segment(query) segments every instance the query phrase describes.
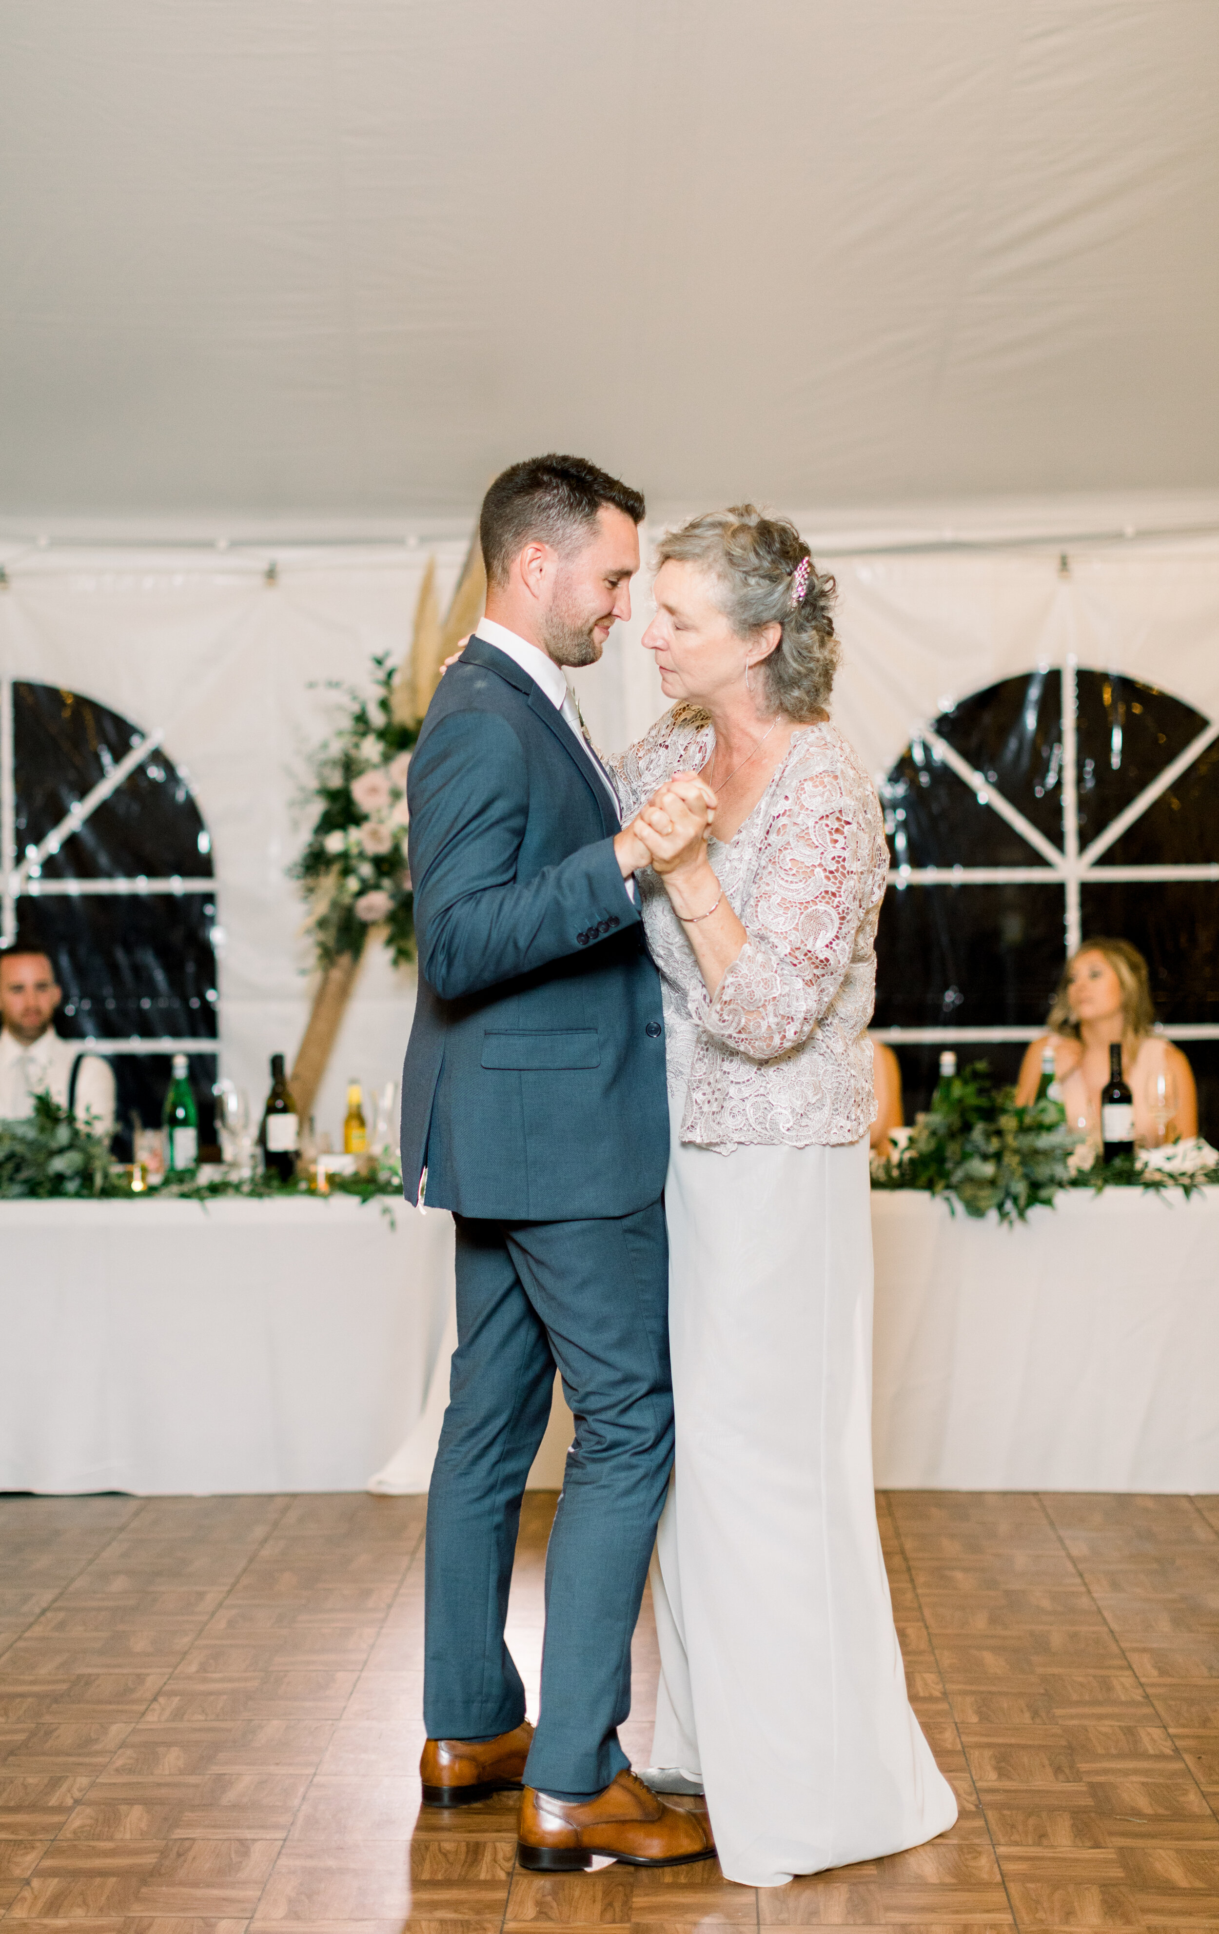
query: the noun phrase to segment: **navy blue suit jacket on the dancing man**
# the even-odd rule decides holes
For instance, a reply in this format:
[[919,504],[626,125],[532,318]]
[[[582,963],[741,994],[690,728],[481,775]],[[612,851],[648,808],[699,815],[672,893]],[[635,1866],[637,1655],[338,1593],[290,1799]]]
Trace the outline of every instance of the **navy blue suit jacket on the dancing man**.
[[426,1201],[466,1216],[633,1215],[664,1189],[664,1023],[606,787],[528,673],[474,636],[406,793],[406,1197],[426,1166]]

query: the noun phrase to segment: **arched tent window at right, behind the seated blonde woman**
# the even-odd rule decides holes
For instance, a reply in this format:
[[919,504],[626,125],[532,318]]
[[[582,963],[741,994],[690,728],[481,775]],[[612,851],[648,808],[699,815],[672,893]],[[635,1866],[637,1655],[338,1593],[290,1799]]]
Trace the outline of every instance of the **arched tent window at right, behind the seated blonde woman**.
[[1014,1077],[1062,961],[1132,940],[1219,1137],[1219,721],[1107,671],[1041,667],[944,712],[882,785],[894,868],[877,1035],[907,1114],[940,1046]]

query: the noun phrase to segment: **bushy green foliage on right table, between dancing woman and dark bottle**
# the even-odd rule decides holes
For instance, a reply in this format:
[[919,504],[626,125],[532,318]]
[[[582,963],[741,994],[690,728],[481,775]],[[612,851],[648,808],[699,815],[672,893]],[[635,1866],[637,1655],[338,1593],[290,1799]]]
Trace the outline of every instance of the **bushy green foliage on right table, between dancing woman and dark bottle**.
[[873,1168],[873,1187],[929,1189],[966,1215],[995,1209],[1000,1222],[1024,1222],[1072,1182],[1076,1135],[1056,1100],[1016,1106],[1016,1089],[996,1089],[987,1062],[940,1081],[935,1102],[915,1122],[907,1145]]

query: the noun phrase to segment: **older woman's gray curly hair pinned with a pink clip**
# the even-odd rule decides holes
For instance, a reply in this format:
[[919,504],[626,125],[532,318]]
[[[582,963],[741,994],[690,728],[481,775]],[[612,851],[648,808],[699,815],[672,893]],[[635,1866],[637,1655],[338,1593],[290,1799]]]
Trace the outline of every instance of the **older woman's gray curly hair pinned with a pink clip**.
[[[809,559],[809,582],[791,603],[791,580]],[[757,671],[768,712],[786,712],[803,723],[826,704],[834,687],[840,646],[834,636],[834,578],[820,574],[809,545],[786,516],[768,516],[753,503],[708,511],[668,532],[656,549],[656,569],[669,563],[700,565],[720,586],[720,609],[739,638],[753,638],[764,625],[784,634]]]

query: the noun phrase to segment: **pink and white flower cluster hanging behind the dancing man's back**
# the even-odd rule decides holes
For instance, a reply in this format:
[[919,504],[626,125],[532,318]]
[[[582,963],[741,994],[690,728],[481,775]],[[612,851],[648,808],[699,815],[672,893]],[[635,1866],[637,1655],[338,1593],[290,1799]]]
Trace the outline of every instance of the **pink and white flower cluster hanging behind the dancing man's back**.
[[308,928],[323,971],[344,953],[358,959],[373,926],[385,930],[395,965],[414,955],[406,772],[420,727],[402,718],[397,679],[381,654],[372,698],[335,685],[346,719],[313,760],[306,801],[315,818],[292,876],[312,901]]

